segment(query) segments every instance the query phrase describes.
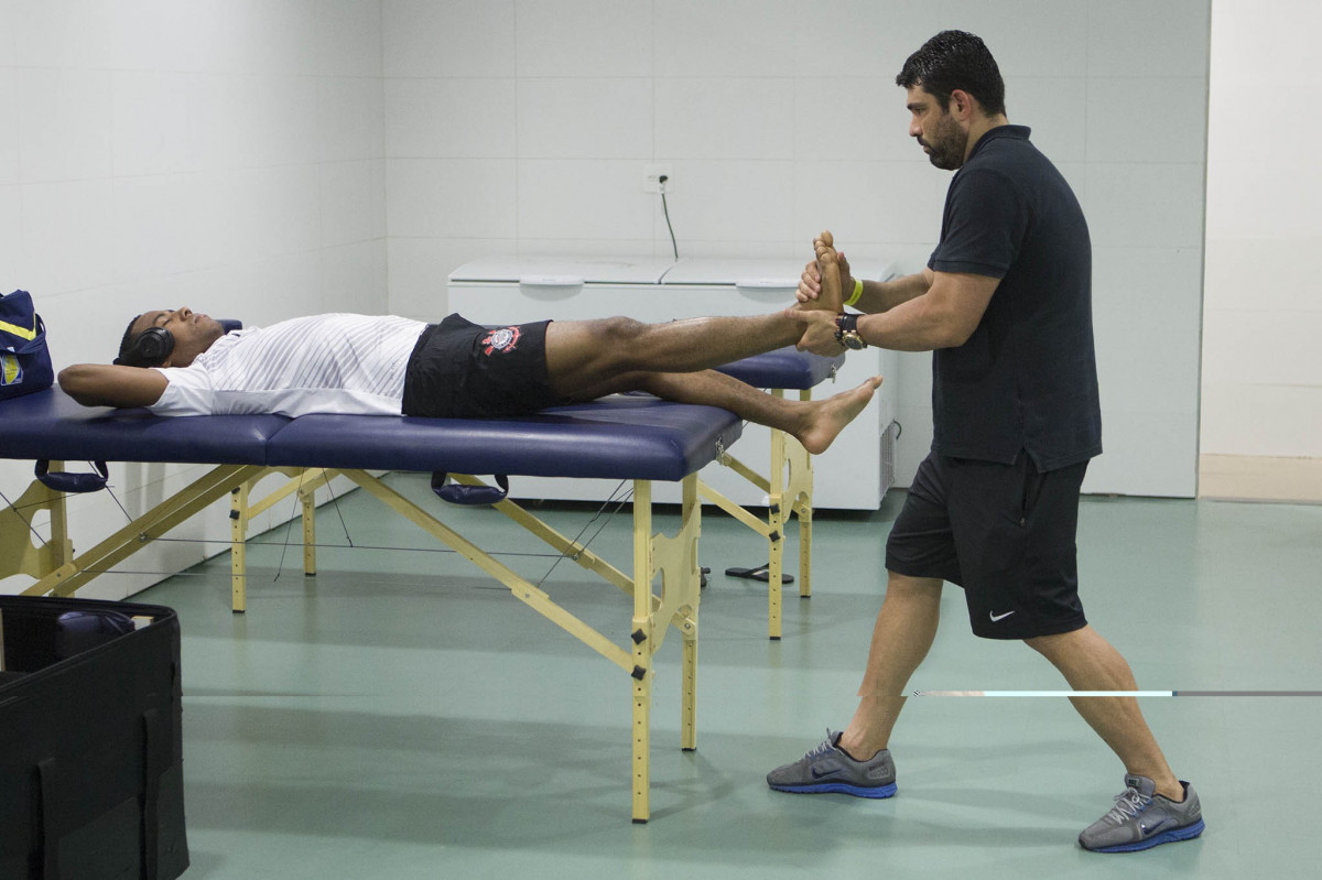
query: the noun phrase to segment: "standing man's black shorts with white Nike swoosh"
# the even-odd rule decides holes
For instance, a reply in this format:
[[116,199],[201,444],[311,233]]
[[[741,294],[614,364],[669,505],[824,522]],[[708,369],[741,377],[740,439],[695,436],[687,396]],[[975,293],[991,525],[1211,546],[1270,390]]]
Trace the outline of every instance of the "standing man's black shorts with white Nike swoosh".
[[1088,622],[1075,544],[1087,469],[1039,473],[1022,452],[1011,465],[931,453],[886,542],[886,568],[962,587],[984,638],[1076,630]]

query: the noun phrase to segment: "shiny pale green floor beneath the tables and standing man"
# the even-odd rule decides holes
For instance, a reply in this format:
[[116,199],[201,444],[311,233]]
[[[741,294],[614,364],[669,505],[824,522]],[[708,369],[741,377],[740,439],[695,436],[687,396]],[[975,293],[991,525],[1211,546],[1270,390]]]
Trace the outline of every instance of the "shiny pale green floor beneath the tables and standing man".
[[[393,485],[440,509],[422,478]],[[1137,855],[1075,844],[1122,769],[1059,698],[911,699],[888,801],[768,790],[768,769],[849,719],[902,498],[818,518],[814,595],[787,595],[779,642],[765,637],[764,588],[719,573],[764,562],[764,542],[703,519],[702,564],[717,573],[702,597],[698,751],[678,748],[672,633],[648,825],[629,822],[631,679],[364,493],[321,509],[319,539],[344,543],[348,530],[358,547],[412,550],[323,547],[304,579],[276,530],[250,550],[245,616],[229,612],[227,556],[141,593],[184,629],[185,876],[1318,876],[1322,699],[1145,699],[1202,794],[1207,832]],[[594,513],[539,510],[570,534]],[[440,513],[481,546],[541,552],[490,510]],[[621,514],[592,547],[628,566],[629,539]],[[553,563],[504,559],[534,581]],[[1322,506],[1088,498],[1080,566],[1089,618],[1140,687],[1322,688]],[[619,591],[568,563],[546,588],[625,641]],[[1022,645],[969,636],[956,588],[944,603],[915,688],[1063,687]]]

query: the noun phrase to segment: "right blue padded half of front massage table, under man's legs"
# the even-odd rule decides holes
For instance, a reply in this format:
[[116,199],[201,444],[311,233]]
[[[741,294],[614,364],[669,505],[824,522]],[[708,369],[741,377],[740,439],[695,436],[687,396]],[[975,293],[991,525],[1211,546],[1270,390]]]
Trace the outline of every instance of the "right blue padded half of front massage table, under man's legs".
[[271,439],[272,466],[682,480],[728,447],[739,419],[715,407],[607,398],[512,419],[305,415]]

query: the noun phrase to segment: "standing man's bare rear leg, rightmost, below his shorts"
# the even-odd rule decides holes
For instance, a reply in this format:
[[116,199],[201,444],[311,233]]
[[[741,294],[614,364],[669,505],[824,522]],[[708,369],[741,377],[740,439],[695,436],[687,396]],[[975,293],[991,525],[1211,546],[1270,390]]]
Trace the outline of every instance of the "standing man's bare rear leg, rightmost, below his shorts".
[[[1059,636],[1025,640],[1025,643],[1055,665],[1076,691],[1137,691],[1125,658],[1092,626]],[[1125,770],[1146,776],[1157,793],[1177,803],[1185,788],[1175,778],[1157,745],[1147,721],[1130,696],[1076,696],[1069,700],[1088,725],[1120,757]]]

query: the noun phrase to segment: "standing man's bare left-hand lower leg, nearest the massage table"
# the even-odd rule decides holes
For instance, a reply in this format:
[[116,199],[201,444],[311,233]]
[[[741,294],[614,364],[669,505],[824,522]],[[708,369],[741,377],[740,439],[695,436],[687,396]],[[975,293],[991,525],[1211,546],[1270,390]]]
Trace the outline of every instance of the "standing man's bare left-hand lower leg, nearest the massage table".
[[839,737],[839,747],[855,758],[866,761],[888,748],[904,708],[904,688],[936,637],[940,605],[940,579],[890,572],[858,688],[858,710]]

